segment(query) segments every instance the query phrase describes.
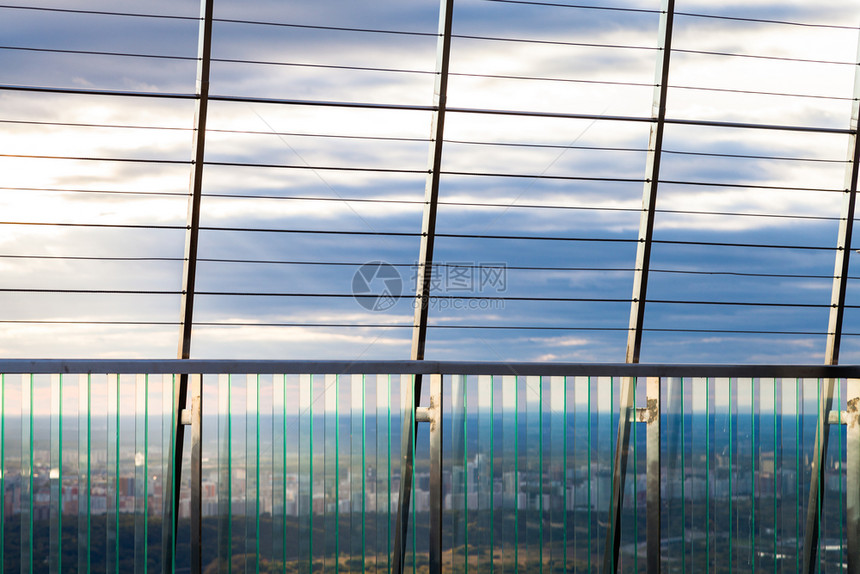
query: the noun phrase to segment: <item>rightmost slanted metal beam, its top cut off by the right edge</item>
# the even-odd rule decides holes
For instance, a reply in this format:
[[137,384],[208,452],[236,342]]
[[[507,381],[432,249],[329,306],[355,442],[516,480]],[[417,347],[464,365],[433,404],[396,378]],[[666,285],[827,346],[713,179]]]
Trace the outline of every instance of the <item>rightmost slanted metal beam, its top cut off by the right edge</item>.
[[[860,63],[860,46],[857,61]],[[839,348],[842,343],[842,322],[845,315],[845,293],[848,286],[848,263],[851,254],[851,237],[854,230],[854,211],[857,201],[857,177],[860,174],[860,145],[857,130],[860,127],[860,68],[854,72],[854,103],[851,106],[851,135],[849,136],[848,167],[845,172],[845,187],[842,192],[842,208],[839,214],[839,236],[836,240],[836,261],[833,270],[833,289],[830,296],[830,317],[827,323],[827,346],[824,351],[826,365],[839,364]],[[806,507],[806,530],[803,539],[803,572],[813,573],[818,557],[818,517],[821,513],[824,481],[824,459],[827,456],[830,409],[833,404],[833,379],[825,379],[819,400],[818,425],[815,434],[815,451],[812,457],[812,474],[809,482],[809,503]],[[855,476],[854,481],[860,480]],[[848,481],[852,477],[849,474]],[[856,540],[856,539],[855,539]],[[849,540],[850,542],[850,540]],[[852,554],[853,552],[853,554]],[[856,556],[860,549],[848,547],[848,555]],[[855,564],[855,566],[860,566]],[[855,570],[850,570],[854,572]]]

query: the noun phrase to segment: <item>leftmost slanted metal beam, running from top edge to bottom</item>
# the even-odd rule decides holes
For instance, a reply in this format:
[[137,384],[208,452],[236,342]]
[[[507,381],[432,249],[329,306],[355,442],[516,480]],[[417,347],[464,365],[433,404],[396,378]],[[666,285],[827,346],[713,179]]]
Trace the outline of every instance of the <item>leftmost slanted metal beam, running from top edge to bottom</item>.
[[[194,154],[193,171],[189,182],[188,197],[188,219],[185,232],[184,263],[182,268],[182,298],[180,301],[180,332],[179,349],[177,356],[180,359],[188,359],[191,356],[191,329],[194,319],[194,286],[197,277],[197,239],[200,233],[200,198],[203,191],[203,160],[205,157],[206,143],[206,116],[209,110],[209,69],[212,56],[212,15],[214,0],[200,0],[200,27],[198,31],[197,47],[197,102],[194,110],[194,135],[192,140],[192,153]],[[162,530],[162,548],[164,549],[163,570],[173,571],[174,552],[176,549],[176,525],[179,520],[179,492],[182,484],[182,450],[185,442],[185,425],[182,424],[182,412],[186,409],[186,397],[188,395],[188,375],[180,375],[179,384],[176,385],[173,406],[175,409],[176,426],[175,439],[170,443],[170,469],[172,484],[168,486],[168,492],[164,497],[164,524],[170,524],[171,528]],[[199,408],[197,412],[199,412]],[[198,425],[199,426],[199,425]],[[200,429],[194,428],[194,433],[199,434]],[[197,435],[195,435],[197,436]],[[199,438],[199,437],[197,437]],[[199,441],[198,441],[199,442]],[[196,444],[196,443],[195,443]],[[200,457],[196,461],[200,463]],[[192,474],[197,476],[200,469],[192,469]],[[199,481],[198,481],[199,482]],[[199,485],[198,485],[199,486]],[[193,495],[194,493],[192,493]],[[197,493],[199,502],[199,493]],[[198,505],[199,510],[199,505]],[[192,517],[197,521],[196,532],[200,533],[200,513]],[[195,530],[194,528],[192,530]],[[197,541],[199,551],[199,540]],[[192,540],[192,544],[194,541]],[[193,562],[192,562],[193,563]],[[196,561],[200,567],[200,560]],[[192,574],[198,574],[199,570],[193,570]]]

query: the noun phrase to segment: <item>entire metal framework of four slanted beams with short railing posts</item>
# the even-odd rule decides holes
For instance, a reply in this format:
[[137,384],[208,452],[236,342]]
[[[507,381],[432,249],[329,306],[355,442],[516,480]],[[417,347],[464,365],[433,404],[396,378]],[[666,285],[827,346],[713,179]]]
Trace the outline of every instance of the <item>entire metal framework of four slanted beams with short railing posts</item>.
[[[165,571],[172,564],[173,554],[175,550],[175,526],[178,519],[178,492],[181,485],[181,459],[184,446],[185,426],[192,427],[192,480],[200,480],[200,425],[201,425],[201,408],[202,402],[199,400],[200,390],[195,388],[192,392],[195,396],[192,398],[191,408],[186,404],[189,389],[189,377],[199,387],[202,380],[198,375],[192,373],[200,372],[198,368],[203,366],[219,365],[219,369],[224,366],[229,366],[233,363],[224,362],[195,362],[190,361],[191,339],[193,327],[193,308],[195,295],[195,279],[197,269],[197,248],[198,236],[200,230],[200,203],[202,197],[202,181],[203,181],[203,166],[205,156],[205,139],[206,139],[206,120],[208,111],[209,97],[209,70],[211,61],[211,44],[212,44],[212,22],[213,22],[213,4],[214,0],[201,0],[200,3],[200,26],[198,36],[198,66],[197,66],[197,93],[196,107],[193,132],[193,170],[190,178],[190,193],[188,202],[188,218],[185,235],[185,250],[184,264],[182,273],[182,293],[180,304],[180,336],[179,348],[177,356],[187,364],[187,368],[174,369],[171,372],[179,373],[179,385],[176,389],[175,396],[175,421],[174,427],[175,439],[171,442],[170,464],[172,465],[171,472],[173,474],[172,492],[170,496],[165,497],[165,520],[173,524],[173,528],[165,528],[163,531],[163,543],[165,548]],[[418,275],[416,283],[415,295],[415,314],[412,328],[412,344],[411,344],[411,360],[396,362],[385,362],[388,366],[402,366],[402,372],[412,373],[413,379],[413,396],[415,398],[415,415],[412,417],[404,417],[403,427],[403,458],[401,460],[402,474],[404,477],[401,480],[401,490],[398,503],[397,522],[395,529],[395,548],[394,548],[394,572],[402,574],[403,558],[406,544],[406,532],[408,529],[409,520],[409,504],[411,495],[411,468],[413,465],[414,456],[414,439],[416,436],[416,421],[426,420],[431,422],[435,431],[431,432],[431,456],[435,456],[432,462],[433,468],[436,465],[441,465],[439,452],[441,449],[441,419],[434,418],[432,408],[434,401],[441,400],[441,373],[442,372],[483,372],[488,365],[480,363],[438,363],[429,362],[423,363],[428,317],[430,308],[430,286],[433,275],[433,252],[436,237],[436,214],[438,207],[439,185],[442,176],[441,159],[443,147],[443,134],[445,125],[446,111],[458,113],[483,113],[483,114],[513,114],[515,112],[502,112],[497,110],[475,110],[475,109],[448,109],[447,108],[447,87],[449,76],[449,64],[451,57],[451,38],[452,38],[452,22],[453,22],[453,0],[440,0],[439,9],[439,28],[438,28],[438,43],[437,43],[437,58],[436,58],[436,80],[434,89],[434,102],[431,107],[427,106],[401,106],[398,109],[422,109],[432,111],[431,124],[431,147],[429,154],[428,175],[425,185],[425,201],[422,218],[421,244],[418,260]],[[655,88],[653,96],[653,107],[651,118],[606,118],[600,119],[617,119],[620,121],[650,121],[650,135],[647,152],[647,160],[645,166],[645,185],[643,190],[642,212],[640,215],[640,228],[636,252],[636,263],[633,275],[633,294],[631,300],[630,320],[628,328],[628,339],[625,360],[628,363],[627,367],[631,368],[639,362],[642,333],[644,325],[645,304],[647,302],[647,286],[648,275],[650,270],[651,248],[653,245],[654,218],[656,213],[657,192],[660,181],[660,162],[663,151],[663,132],[666,124],[683,124],[683,125],[701,125],[701,126],[724,126],[738,128],[761,128],[761,129],[786,129],[793,131],[809,131],[820,133],[845,133],[850,136],[849,149],[849,165],[846,173],[846,183],[843,195],[842,210],[840,216],[839,234],[837,239],[837,249],[835,256],[835,270],[832,287],[831,308],[827,330],[827,344],[825,350],[825,368],[820,370],[820,367],[791,367],[785,368],[786,372],[795,373],[803,372],[803,369],[809,369],[809,372],[818,373],[815,376],[822,376],[830,371],[826,367],[835,367],[839,360],[839,350],[842,338],[842,325],[845,310],[845,297],[847,289],[848,265],[852,244],[852,227],[855,214],[855,203],[857,193],[858,175],[860,175],[860,145],[858,145],[857,130],[860,127],[860,72],[855,74],[854,85],[854,101],[852,106],[851,124],[849,129],[826,129],[826,128],[804,128],[794,126],[776,126],[776,125],[750,125],[736,124],[731,122],[713,122],[713,121],[696,121],[696,120],[678,120],[666,118],[666,99],[668,92],[668,74],[669,64],[672,51],[672,29],[675,13],[674,0],[662,0],[662,7],[659,22],[659,40],[658,40],[658,57],[655,74]],[[858,52],[858,61],[860,61],[860,52]],[[3,89],[19,89],[13,86],[0,86]],[[25,89],[25,88],[20,88]],[[42,89],[36,91],[52,91]],[[64,90],[53,90],[63,92]],[[75,90],[74,93],[85,93],[86,90]],[[119,92],[102,92],[90,90],[89,93],[104,94],[104,95],[129,95],[141,96],[143,94],[134,93],[119,93]],[[218,97],[214,98],[223,101],[240,101],[242,98]],[[244,101],[244,100],[243,100]],[[260,100],[263,101],[263,100]],[[276,101],[276,100],[265,100]],[[296,105],[349,105],[336,102],[287,102],[277,100],[281,103],[293,103]],[[360,107],[363,105],[356,104]],[[363,107],[374,107],[366,105]],[[541,114],[541,113],[526,113],[520,115],[533,115],[541,117],[587,117],[582,114]],[[0,366],[4,362],[0,361]],[[12,366],[8,361],[7,366]],[[66,366],[75,364],[73,362],[64,362]],[[113,362],[112,364],[116,364]],[[282,362],[252,362],[255,365],[266,368],[275,368],[274,365],[285,366]],[[381,365],[383,362],[380,362]],[[92,362],[83,362],[81,364],[92,364]],[[134,364],[128,362],[128,364]],[[356,363],[340,364],[336,362],[295,362],[296,368],[301,368],[303,372],[313,370],[313,366],[327,365],[328,368],[341,368],[344,372],[359,368]],[[421,364],[419,366],[419,364]],[[301,365],[298,367],[297,365]],[[360,364],[359,364],[360,365]],[[32,366],[32,363],[31,363]],[[366,366],[366,365],[365,365]],[[460,371],[455,368],[463,367],[465,371]],[[555,365],[547,368],[538,369],[539,371],[546,370],[550,372],[562,372],[569,369],[571,365]],[[575,366],[574,370],[588,370],[592,374],[599,372],[601,369],[606,369],[607,372],[617,373],[620,365],[588,365]],[[44,364],[39,368],[47,368]],[[161,366],[163,367],[163,365]],[[245,367],[247,368],[247,363]],[[524,371],[535,370],[534,365],[529,364],[503,364],[490,366],[490,371],[502,369],[505,373],[521,374]],[[636,376],[649,376],[648,373],[660,373],[658,376],[671,376],[671,371],[677,369],[678,372],[696,371],[697,369],[705,369],[707,372],[738,372],[738,366],[726,367],[680,367],[680,366],[642,366],[644,370],[640,372],[638,367],[630,370],[622,383],[621,400],[619,413],[619,426],[617,436],[617,448],[615,451],[615,461],[613,469],[613,490],[610,506],[610,520],[606,535],[606,546],[604,554],[604,570],[607,572],[615,572],[618,565],[618,552],[620,544],[620,520],[621,507],[623,503],[624,482],[626,478],[626,466],[629,448],[630,425],[638,422],[647,422],[647,523],[648,523],[648,571],[660,571],[660,459],[659,459],[659,423],[661,415],[660,406],[660,389],[659,379],[649,378],[647,381],[647,397],[648,407],[646,409],[633,408],[633,398],[636,391]],[[778,376],[780,367],[741,367],[741,371],[756,372],[771,372],[776,369],[776,372],[770,376]],[[669,371],[669,372],[667,372]],[[32,371],[32,368],[30,369]],[[279,371],[283,372],[283,371]],[[836,374],[836,373],[839,374]],[[842,369],[834,369],[833,377],[846,376]],[[428,414],[426,409],[417,405],[421,396],[422,376],[431,375],[433,389],[431,392],[431,411]],[[750,376],[756,376],[752,374]],[[760,375],[767,376],[767,375]],[[829,376],[829,375],[828,375]],[[850,373],[849,375],[850,376]],[[656,381],[656,382],[655,382]],[[853,571],[860,568],[860,478],[858,468],[860,468],[860,452],[855,452],[860,449],[860,430],[858,430],[858,415],[857,404],[860,402],[860,383],[856,381],[849,382],[849,410],[845,413],[845,421],[843,417],[838,417],[838,421],[831,421],[832,400],[833,400],[834,378],[827,378],[822,385],[822,395],[820,401],[819,421],[817,428],[816,447],[813,457],[813,472],[810,482],[810,496],[807,508],[807,528],[806,537],[804,540],[804,572],[814,572],[818,549],[818,516],[821,511],[822,504],[822,489],[820,484],[823,481],[823,460],[827,452],[829,425],[836,422],[844,423],[845,421],[854,421],[853,426],[849,422],[848,432],[848,495],[847,495],[847,529],[849,537],[848,562],[849,570]],[[435,433],[439,433],[436,436]],[[435,437],[435,438],[434,438]],[[441,467],[440,467],[441,468]],[[852,470],[853,469],[853,470]],[[441,477],[441,475],[440,475]],[[436,491],[441,498],[441,478],[435,485]],[[199,487],[199,484],[198,484]],[[192,520],[192,572],[200,572],[201,564],[201,513],[200,513],[200,496],[199,488],[197,489],[196,497],[192,498],[192,514],[195,515]],[[434,491],[434,492],[436,492]],[[434,507],[433,517],[431,517],[431,538],[435,539],[431,544],[431,572],[441,572],[441,503]],[[196,525],[195,525],[196,522]],[[438,531],[437,531],[438,530]],[[437,548],[438,547],[438,548]]]

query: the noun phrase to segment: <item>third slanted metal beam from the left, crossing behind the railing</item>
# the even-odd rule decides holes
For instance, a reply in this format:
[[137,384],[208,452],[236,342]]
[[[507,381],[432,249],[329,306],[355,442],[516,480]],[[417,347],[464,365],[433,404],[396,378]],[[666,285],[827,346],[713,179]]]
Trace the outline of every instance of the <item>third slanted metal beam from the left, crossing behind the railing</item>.
[[[655,71],[654,99],[651,109],[651,132],[648,137],[648,156],[645,165],[645,187],[642,194],[642,213],[639,218],[639,243],[636,247],[636,266],[633,274],[633,297],[630,306],[630,324],[627,331],[628,363],[638,363],[642,347],[642,325],[645,318],[645,300],[648,290],[648,271],[651,266],[651,246],[654,236],[654,213],[657,206],[657,188],[660,180],[660,160],[663,154],[663,130],[666,125],[666,94],[669,87],[669,60],[672,55],[672,28],[675,17],[675,0],[662,0],[660,13],[658,58]],[[621,507],[624,498],[624,481],[627,475],[627,456],[630,445],[630,415],[636,379],[625,378],[621,383],[621,412],[618,419],[618,442],[613,464],[612,500],[609,506],[609,528],[603,551],[603,571],[614,573],[618,568],[618,550],[621,544]],[[650,446],[650,441],[649,441]],[[658,522],[659,524],[659,522]],[[650,533],[649,537],[659,532]],[[649,552],[652,546],[648,546]],[[659,545],[656,546],[659,550]],[[655,562],[659,566],[659,560]],[[649,554],[648,564],[652,564]],[[659,570],[658,570],[659,572]]]

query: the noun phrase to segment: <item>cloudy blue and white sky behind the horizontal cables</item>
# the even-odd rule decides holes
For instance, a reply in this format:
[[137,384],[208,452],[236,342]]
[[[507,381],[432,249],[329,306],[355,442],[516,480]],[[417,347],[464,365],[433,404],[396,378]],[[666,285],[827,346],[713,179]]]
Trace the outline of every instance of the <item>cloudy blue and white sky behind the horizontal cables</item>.
[[[659,9],[456,3],[427,358],[624,360]],[[0,355],[171,358],[199,6],[74,10],[0,7]],[[860,7],[676,11],[642,361],[819,363]],[[408,358],[411,300],[350,294],[376,261],[414,292],[438,3],[216,0],[215,18],[192,357]],[[857,361],[858,309],[845,332]]]

